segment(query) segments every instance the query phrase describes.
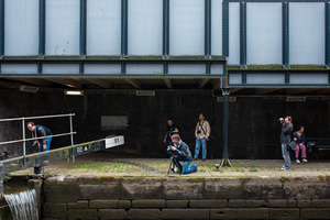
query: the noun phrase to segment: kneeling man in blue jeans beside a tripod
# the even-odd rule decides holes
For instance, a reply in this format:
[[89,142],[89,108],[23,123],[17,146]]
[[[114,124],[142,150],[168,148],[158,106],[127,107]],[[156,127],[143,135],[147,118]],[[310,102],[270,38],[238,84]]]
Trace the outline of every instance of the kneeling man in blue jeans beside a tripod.
[[[197,170],[197,165],[194,164],[190,166],[193,161],[191,153],[189,147],[186,143],[183,142],[178,134],[173,134],[170,136],[174,146],[169,146],[173,151],[173,163],[178,167],[179,173],[182,174],[189,174]],[[179,163],[183,161],[183,165]]]

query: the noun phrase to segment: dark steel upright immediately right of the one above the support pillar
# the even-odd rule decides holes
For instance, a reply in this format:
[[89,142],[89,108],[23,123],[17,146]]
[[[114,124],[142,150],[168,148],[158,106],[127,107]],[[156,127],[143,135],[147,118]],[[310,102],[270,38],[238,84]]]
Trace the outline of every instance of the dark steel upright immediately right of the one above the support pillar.
[[246,65],[246,1],[240,1],[240,64]]

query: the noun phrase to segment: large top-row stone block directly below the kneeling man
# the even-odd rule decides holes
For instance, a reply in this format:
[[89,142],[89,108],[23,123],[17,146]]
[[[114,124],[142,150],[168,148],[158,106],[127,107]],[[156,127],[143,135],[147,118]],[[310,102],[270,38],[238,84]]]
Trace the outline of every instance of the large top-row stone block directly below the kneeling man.
[[204,178],[167,178],[163,182],[165,199],[201,199]]

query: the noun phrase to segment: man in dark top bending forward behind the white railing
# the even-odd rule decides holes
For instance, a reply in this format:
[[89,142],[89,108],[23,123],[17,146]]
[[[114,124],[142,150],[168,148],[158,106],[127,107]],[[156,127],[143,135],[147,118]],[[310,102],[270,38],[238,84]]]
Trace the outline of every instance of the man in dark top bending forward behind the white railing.
[[53,135],[52,131],[46,127],[34,124],[34,122],[29,122],[26,127],[32,132],[33,138],[48,136],[45,139],[37,139],[35,143],[37,144],[38,152],[50,151],[52,142],[51,135]]

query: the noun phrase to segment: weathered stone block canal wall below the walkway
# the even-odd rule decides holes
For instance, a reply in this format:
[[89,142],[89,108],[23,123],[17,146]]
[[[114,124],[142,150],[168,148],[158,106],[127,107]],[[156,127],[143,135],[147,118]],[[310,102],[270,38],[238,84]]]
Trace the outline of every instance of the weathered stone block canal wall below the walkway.
[[329,176],[48,177],[44,220],[329,219]]

